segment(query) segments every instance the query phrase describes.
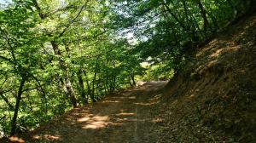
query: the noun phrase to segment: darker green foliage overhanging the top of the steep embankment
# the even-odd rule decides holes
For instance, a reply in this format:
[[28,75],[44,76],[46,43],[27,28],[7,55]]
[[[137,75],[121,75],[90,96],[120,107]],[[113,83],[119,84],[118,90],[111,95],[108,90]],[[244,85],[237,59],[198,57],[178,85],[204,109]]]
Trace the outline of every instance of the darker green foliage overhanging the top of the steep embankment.
[[[120,2],[121,1],[121,2]],[[255,2],[241,0],[119,0],[120,26],[139,39],[137,52],[177,72],[215,33],[250,14]]]

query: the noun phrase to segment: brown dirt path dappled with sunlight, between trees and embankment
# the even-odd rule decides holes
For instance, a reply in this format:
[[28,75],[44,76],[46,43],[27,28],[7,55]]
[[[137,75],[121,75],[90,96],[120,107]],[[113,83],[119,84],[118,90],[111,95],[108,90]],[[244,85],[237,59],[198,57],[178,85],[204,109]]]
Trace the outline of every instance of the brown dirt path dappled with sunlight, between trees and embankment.
[[126,143],[156,142],[154,106],[166,82],[113,94],[93,106],[67,112],[22,139],[26,142]]

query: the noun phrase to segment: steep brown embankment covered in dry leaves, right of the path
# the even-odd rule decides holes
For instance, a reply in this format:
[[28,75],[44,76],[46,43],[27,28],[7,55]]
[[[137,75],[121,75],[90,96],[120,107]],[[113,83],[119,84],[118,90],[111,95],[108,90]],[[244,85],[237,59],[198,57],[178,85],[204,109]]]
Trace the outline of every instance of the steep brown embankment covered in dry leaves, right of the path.
[[166,85],[160,142],[256,141],[255,42],[254,14],[198,50]]

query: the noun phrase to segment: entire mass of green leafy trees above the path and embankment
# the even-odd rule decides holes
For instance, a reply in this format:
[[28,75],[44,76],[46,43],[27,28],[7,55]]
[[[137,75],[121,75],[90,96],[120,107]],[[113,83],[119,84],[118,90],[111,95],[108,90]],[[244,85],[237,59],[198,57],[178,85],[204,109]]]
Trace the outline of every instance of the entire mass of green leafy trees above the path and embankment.
[[253,3],[13,0],[0,9],[0,133],[34,129],[136,85],[136,76],[172,77]]

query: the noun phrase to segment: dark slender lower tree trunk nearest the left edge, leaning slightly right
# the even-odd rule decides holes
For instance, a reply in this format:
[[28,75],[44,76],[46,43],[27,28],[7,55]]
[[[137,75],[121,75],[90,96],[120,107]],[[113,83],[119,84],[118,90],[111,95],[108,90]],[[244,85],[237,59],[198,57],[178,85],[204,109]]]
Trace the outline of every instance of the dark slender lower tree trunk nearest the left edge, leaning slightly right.
[[16,133],[16,128],[17,128],[17,117],[18,117],[18,112],[19,112],[19,108],[20,108],[20,100],[21,100],[21,94],[22,94],[22,90],[24,87],[24,84],[26,83],[26,78],[22,77],[21,81],[20,81],[20,87],[18,90],[18,95],[16,98],[16,104],[15,104],[15,113],[14,113],[14,117],[11,121],[11,133],[10,135],[15,135]]

